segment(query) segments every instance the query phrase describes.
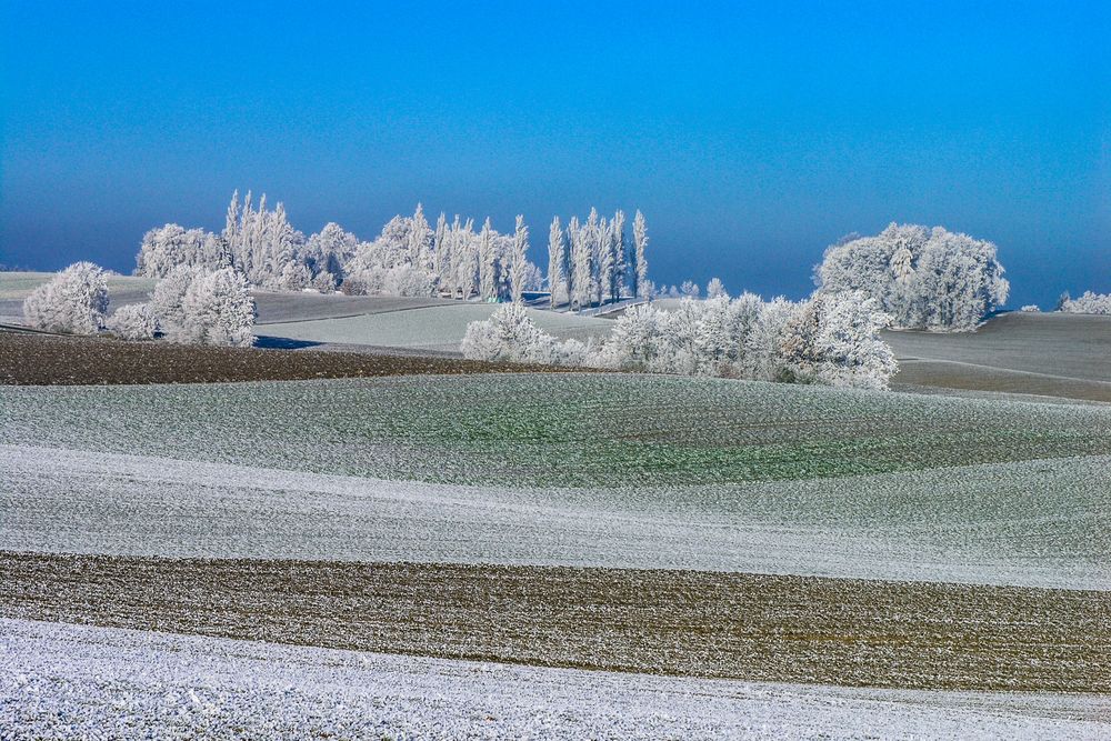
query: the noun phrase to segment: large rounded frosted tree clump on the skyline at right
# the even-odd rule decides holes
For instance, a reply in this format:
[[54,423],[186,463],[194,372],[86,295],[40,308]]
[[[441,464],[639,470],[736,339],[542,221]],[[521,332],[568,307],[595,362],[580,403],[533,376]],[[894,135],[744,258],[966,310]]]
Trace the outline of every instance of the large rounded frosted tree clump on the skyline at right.
[[1009,283],[991,242],[941,227],[892,223],[877,237],[825,251],[820,293],[862,291],[901,329],[971,330],[1007,300]]

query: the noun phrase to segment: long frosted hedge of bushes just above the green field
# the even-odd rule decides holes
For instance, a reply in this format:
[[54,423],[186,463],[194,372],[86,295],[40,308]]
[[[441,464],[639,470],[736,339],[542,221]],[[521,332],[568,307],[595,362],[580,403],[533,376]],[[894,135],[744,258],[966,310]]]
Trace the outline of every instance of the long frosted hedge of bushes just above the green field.
[[889,321],[860,292],[803,303],[751,293],[685,299],[674,311],[631,307],[595,349],[559,342],[514,304],[471,322],[462,350],[477,360],[884,389],[897,370],[880,337]]

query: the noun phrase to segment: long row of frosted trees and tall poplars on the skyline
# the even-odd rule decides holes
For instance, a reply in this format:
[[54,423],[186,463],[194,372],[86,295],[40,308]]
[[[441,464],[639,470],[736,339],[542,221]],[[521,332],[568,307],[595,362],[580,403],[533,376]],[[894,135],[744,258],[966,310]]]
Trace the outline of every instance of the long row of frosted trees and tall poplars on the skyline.
[[[559,218],[549,232],[547,283],[551,306],[583,309],[625,297],[648,297],[644,217],[633,219],[633,239],[625,236],[625,217]],[[273,291],[343,290],[347,293],[448,296],[458,299],[520,302],[546,280],[529,261],[529,228],[517,217],[513,232],[499,233],[486,219],[441,213],[434,227],[418,204],[411,217],[397,216],[372,241],[360,241],[329,223],[308,238],[296,230],[286,209],[272,210],[263,196],[256,204],[237,191],[228,207],[223,231],[166,224],[143,237],[136,273],[164,278],[178,266],[218,270],[233,268],[257,288]]]

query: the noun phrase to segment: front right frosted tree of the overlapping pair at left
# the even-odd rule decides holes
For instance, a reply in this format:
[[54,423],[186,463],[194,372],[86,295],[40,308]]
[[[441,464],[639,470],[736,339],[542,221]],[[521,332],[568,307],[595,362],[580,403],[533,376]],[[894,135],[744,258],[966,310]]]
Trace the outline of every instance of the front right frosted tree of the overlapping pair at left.
[[196,344],[246,348],[254,344],[254,299],[233,268],[198,276],[186,292],[181,336]]

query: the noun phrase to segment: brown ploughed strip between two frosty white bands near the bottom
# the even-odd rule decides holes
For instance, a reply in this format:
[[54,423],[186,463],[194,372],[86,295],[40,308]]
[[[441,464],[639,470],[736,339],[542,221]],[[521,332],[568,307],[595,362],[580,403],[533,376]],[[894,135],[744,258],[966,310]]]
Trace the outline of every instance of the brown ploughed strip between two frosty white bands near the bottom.
[[0,552],[0,615],[693,677],[1107,692],[1111,594],[693,571]]

